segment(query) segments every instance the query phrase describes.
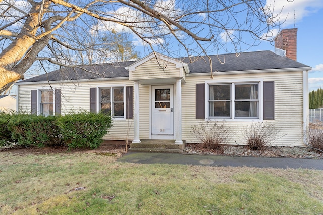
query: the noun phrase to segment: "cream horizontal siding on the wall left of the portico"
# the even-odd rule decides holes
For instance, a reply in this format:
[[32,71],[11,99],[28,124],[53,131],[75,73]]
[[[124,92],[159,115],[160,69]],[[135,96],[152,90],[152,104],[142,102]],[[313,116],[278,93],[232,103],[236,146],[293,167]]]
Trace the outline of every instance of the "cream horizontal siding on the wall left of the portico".
[[[97,82],[78,82],[66,83],[64,85],[51,83],[52,88],[61,89],[61,104],[62,115],[69,113],[71,110],[84,109],[90,110],[90,88],[103,87],[111,85],[133,86],[132,81],[97,81]],[[50,86],[48,84],[26,84],[19,86],[19,108],[24,111],[31,111],[31,90],[46,89]],[[129,132],[128,128],[130,126]],[[127,138],[133,139],[133,119],[115,119],[113,120],[113,127],[109,130],[103,139],[125,140]]]

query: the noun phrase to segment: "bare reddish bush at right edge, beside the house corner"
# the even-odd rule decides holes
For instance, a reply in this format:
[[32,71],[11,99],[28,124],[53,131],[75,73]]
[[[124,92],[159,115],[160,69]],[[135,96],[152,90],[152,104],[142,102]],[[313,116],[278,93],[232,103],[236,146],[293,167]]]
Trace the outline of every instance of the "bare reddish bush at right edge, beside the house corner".
[[321,123],[311,123],[305,131],[305,144],[312,151],[323,153],[323,125]]

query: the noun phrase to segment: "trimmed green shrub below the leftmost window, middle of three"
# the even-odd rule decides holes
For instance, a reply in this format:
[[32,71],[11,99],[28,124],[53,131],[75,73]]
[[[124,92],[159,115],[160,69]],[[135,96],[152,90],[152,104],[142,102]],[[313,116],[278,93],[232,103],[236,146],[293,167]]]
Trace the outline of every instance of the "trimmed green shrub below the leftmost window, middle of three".
[[9,120],[12,138],[18,145],[44,147],[60,143],[60,130],[57,117],[14,114]]

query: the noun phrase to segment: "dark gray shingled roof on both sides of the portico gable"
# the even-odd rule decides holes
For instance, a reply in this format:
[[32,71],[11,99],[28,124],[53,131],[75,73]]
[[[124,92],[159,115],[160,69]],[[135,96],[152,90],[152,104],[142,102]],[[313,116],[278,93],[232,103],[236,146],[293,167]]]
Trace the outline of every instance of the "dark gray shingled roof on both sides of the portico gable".
[[[233,53],[224,55],[212,55],[210,57],[213,63],[213,70],[219,72],[309,67],[287,57],[276,55],[272,51],[245,52],[241,53],[239,56]],[[194,58],[195,61],[193,63],[189,63],[189,58],[187,57],[177,58],[177,60],[188,63],[190,73],[210,72],[208,58],[193,57],[193,59]],[[219,59],[225,63],[220,63]],[[83,65],[74,68],[67,67],[30,79],[26,79],[22,82],[128,77],[129,71],[127,71],[125,67],[133,64],[134,62],[135,61],[128,61],[91,66]],[[80,67],[82,67],[83,69],[81,69]]]

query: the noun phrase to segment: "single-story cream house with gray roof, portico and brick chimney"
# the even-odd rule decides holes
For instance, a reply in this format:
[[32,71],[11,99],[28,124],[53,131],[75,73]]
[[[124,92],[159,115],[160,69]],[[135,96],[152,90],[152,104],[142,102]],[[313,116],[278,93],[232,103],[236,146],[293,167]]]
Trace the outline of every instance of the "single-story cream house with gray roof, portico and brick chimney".
[[[277,41],[283,55],[296,51],[296,30],[285,29],[277,37],[284,40],[284,47]],[[225,120],[234,130],[230,144],[243,144],[244,127],[267,122],[285,134],[275,145],[304,146],[311,68],[294,56],[272,51],[213,55],[213,73],[205,57],[192,57],[190,63],[187,57],[159,53],[138,61],[63,68],[17,83],[18,106],[43,115],[79,108],[111,112],[114,126],[104,136],[110,140],[198,143],[192,125],[208,119]]]

